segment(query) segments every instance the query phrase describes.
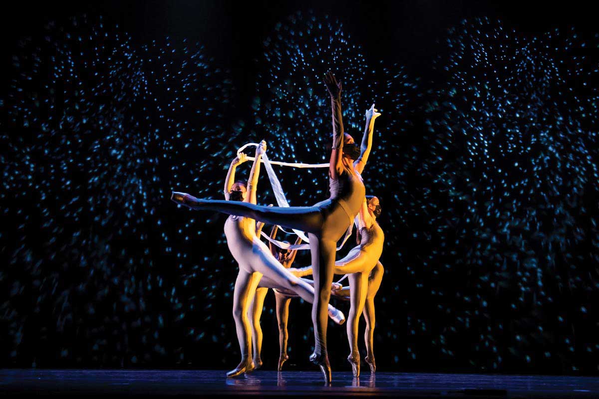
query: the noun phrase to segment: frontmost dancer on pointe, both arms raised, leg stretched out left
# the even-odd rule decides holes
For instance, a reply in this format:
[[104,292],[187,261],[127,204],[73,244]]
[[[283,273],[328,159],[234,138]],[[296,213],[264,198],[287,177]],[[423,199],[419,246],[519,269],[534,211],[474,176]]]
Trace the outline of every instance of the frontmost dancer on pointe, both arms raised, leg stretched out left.
[[[331,366],[326,352],[326,318],[331,297],[336,245],[362,206],[365,189],[359,172],[364,169],[367,158],[363,156],[364,142],[371,142],[374,120],[380,114],[374,110],[374,106],[367,111],[361,151],[352,136],[343,132],[341,83],[337,83],[331,72],[326,74],[324,81],[331,97],[333,127],[329,162],[329,199],[313,206],[286,208],[259,206],[249,202],[197,199],[190,194],[179,192],[174,192],[171,199],[192,209],[249,217],[308,233],[311,263],[314,268],[314,290],[317,292],[312,306],[314,353],[310,360],[320,367],[325,383],[330,383]],[[370,153],[370,148],[367,151]]]

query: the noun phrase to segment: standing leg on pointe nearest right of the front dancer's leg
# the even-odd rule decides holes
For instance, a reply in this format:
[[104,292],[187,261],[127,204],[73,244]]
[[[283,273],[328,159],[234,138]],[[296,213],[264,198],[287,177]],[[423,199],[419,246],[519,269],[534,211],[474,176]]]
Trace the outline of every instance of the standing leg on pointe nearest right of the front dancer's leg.
[[350,309],[347,316],[347,341],[350,354],[347,361],[352,365],[354,377],[360,376],[360,352],[358,350],[358,323],[368,294],[368,273],[347,276],[350,287]]

